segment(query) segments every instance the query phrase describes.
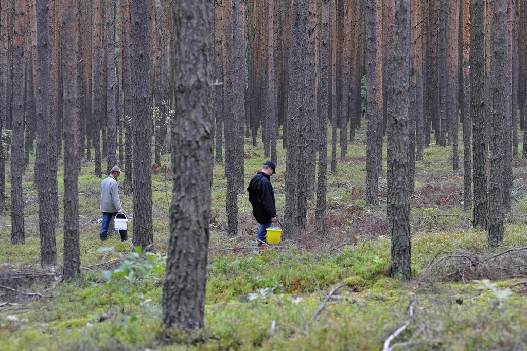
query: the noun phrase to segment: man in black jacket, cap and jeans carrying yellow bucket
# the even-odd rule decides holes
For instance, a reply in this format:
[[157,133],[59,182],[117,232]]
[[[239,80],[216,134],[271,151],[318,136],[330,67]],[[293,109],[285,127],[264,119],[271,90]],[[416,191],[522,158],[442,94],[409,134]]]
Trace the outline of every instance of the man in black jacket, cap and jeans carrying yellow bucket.
[[276,165],[267,161],[249,183],[249,202],[252,204],[252,215],[260,223],[256,242],[258,246],[266,243],[266,229],[276,222],[275,192],[271,185],[271,175],[276,173]]

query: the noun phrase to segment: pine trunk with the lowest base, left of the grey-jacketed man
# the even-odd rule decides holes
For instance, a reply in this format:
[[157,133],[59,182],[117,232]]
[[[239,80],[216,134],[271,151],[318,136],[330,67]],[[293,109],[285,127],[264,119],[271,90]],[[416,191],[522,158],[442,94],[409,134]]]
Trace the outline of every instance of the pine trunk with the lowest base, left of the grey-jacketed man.
[[[76,169],[79,157],[77,147],[77,3],[62,0],[62,27],[64,28],[64,169]],[[113,58],[113,56],[112,56]],[[80,274],[81,249],[79,246],[79,195],[77,172],[64,172],[64,280]]]

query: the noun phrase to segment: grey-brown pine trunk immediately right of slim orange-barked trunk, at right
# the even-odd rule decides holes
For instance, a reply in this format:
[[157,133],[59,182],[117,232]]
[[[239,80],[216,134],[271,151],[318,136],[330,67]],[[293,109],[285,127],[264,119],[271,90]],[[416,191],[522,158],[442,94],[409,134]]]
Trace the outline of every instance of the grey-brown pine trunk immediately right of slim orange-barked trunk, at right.
[[[487,228],[487,148],[485,142],[485,33],[484,0],[472,0],[471,18],[471,81],[472,133],[474,153],[474,227]],[[490,103],[487,101],[487,103]]]

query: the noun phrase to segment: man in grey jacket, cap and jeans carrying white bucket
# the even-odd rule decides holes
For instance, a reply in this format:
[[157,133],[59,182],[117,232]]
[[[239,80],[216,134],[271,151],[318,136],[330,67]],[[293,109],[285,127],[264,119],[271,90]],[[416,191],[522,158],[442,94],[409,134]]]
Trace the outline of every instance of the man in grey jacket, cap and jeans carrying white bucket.
[[[117,178],[121,173],[121,169],[118,166],[113,166],[108,178],[101,183],[101,240],[108,239],[108,226],[112,218],[118,213],[123,213],[123,206],[119,198],[119,186],[117,185]],[[121,240],[128,240],[128,230],[119,230],[119,233],[121,234]]]

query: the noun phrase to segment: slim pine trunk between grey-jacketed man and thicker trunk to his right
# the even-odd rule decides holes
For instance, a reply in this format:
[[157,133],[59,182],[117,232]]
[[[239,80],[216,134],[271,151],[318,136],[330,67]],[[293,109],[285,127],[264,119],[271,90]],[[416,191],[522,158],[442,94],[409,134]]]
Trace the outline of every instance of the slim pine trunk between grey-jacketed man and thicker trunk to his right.
[[124,114],[124,195],[132,194],[133,179],[133,100],[130,56],[130,7],[129,0],[121,0],[121,28],[123,46],[123,114]]

